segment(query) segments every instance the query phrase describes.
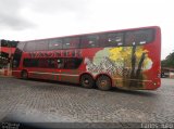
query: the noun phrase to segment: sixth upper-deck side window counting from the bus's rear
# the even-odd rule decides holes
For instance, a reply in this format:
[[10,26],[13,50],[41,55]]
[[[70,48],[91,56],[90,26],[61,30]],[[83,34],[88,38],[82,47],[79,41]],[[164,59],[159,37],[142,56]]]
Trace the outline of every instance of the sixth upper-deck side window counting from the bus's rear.
[[36,50],[48,50],[48,40],[36,41]]

